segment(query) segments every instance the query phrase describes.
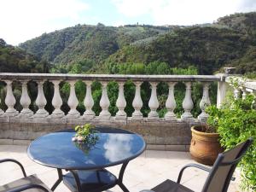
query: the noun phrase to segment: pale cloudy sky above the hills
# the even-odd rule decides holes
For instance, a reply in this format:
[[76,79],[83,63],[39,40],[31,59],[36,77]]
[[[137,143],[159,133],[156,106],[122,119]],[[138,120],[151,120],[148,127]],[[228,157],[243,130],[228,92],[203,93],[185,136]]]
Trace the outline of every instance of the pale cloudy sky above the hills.
[[256,11],[256,0],[0,0],[0,38],[18,45],[77,24],[194,25]]

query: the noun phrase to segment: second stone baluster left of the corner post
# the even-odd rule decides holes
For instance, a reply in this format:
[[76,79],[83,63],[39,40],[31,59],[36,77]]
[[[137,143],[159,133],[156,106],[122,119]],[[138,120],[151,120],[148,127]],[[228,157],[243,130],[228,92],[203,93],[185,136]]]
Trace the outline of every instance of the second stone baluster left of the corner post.
[[183,109],[184,113],[181,116],[183,121],[190,121],[193,120],[193,116],[190,113],[191,109],[193,108],[193,101],[191,98],[191,82],[187,82],[186,84],[186,95],[183,100]]

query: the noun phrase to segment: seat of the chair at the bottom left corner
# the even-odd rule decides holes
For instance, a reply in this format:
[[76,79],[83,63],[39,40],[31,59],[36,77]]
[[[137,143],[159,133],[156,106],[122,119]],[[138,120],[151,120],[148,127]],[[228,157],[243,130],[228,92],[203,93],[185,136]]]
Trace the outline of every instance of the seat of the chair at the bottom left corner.
[[[44,188],[49,189],[36,175],[31,175],[29,177],[23,177],[18,180],[15,180],[11,183],[7,183],[3,186],[0,186],[0,192],[8,192],[10,189],[15,189],[25,184],[40,184],[43,185]],[[26,192],[42,192],[41,189],[26,189]],[[49,191],[51,191],[49,189]]]

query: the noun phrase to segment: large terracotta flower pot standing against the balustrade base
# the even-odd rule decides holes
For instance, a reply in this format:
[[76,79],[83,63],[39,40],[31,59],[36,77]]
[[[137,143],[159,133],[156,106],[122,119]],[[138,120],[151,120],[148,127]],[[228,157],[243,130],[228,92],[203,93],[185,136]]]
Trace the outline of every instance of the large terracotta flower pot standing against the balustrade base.
[[218,142],[218,133],[207,133],[205,130],[206,126],[202,125],[191,127],[192,139],[189,151],[195,161],[212,166],[218,154],[224,149]]

